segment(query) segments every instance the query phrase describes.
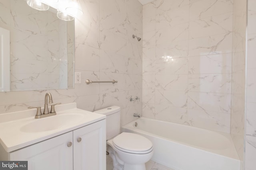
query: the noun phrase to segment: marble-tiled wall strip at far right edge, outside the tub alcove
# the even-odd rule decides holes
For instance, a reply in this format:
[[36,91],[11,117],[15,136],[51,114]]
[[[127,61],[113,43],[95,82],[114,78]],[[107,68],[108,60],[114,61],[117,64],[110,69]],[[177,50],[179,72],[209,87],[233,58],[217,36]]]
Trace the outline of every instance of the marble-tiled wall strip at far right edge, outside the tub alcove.
[[248,0],[245,170],[256,170],[256,2]]

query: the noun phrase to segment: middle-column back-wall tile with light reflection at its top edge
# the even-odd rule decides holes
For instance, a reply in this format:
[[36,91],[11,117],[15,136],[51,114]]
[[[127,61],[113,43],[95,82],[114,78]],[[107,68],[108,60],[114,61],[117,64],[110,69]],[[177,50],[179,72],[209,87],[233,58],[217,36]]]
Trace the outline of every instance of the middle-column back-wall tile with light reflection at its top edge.
[[156,75],[188,74],[188,58],[156,60]]

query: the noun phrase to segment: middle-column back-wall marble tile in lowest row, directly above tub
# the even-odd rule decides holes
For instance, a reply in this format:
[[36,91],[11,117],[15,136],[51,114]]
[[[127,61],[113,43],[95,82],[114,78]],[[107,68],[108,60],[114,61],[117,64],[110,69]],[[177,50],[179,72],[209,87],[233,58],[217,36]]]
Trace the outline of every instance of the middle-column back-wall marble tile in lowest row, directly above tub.
[[173,123],[188,124],[187,109],[181,107],[155,105],[155,119]]

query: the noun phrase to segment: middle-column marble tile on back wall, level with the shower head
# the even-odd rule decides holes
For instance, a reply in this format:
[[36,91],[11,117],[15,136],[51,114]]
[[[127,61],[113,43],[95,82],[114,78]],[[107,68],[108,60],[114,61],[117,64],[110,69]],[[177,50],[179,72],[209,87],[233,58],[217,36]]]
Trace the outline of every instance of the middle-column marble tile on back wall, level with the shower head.
[[170,44],[176,41],[188,40],[189,23],[172,25],[156,31],[156,45]]

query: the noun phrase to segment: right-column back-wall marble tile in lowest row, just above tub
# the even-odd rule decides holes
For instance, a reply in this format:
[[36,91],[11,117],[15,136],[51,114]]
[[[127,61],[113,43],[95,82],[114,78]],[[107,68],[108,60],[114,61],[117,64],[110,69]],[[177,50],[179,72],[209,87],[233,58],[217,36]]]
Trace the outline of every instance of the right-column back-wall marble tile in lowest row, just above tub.
[[230,114],[214,111],[188,109],[191,126],[230,133]]

